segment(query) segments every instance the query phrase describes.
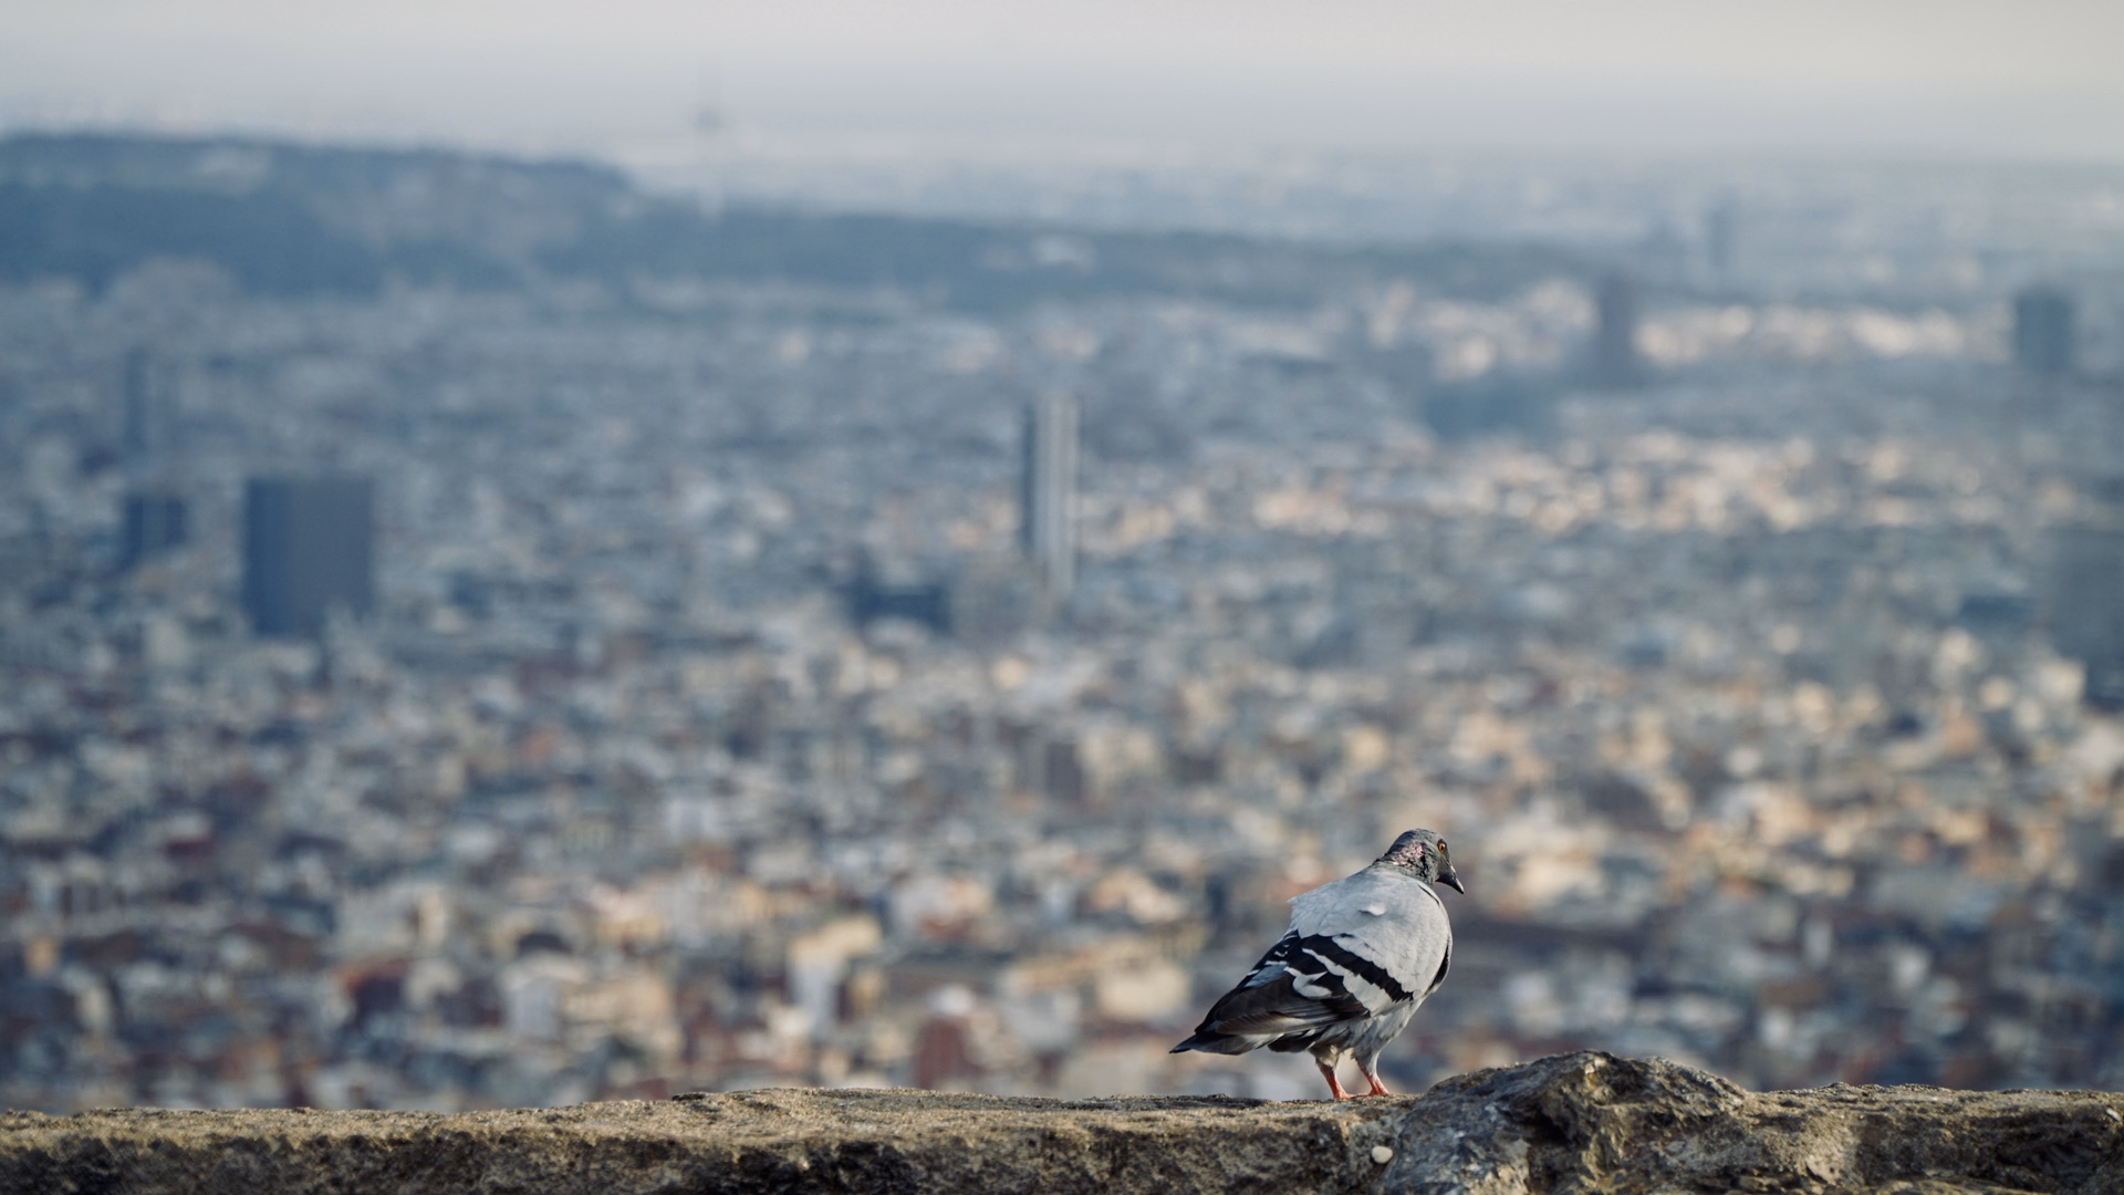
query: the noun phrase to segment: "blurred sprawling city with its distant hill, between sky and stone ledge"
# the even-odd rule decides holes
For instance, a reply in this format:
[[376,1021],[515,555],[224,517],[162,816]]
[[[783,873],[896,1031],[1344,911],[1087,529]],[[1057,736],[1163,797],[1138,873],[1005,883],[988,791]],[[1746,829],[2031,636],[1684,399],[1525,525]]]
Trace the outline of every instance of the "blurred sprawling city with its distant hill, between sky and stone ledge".
[[0,142],[0,1104],[2124,1087],[2124,170],[994,170]]

